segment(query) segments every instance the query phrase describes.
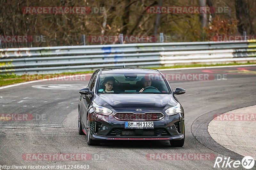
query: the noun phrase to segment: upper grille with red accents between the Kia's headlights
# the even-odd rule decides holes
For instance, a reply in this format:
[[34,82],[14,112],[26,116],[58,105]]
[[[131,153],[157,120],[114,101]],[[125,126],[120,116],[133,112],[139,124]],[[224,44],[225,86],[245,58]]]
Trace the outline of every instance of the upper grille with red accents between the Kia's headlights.
[[114,114],[114,117],[117,120],[160,120],[164,117],[164,114],[161,112],[146,112],[142,114],[132,113],[132,112],[118,112]]

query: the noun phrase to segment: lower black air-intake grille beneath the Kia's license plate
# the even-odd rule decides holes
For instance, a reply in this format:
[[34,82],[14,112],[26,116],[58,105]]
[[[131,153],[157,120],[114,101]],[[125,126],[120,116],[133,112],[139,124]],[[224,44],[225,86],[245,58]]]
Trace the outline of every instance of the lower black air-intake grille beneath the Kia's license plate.
[[108,136],[171,136],[164,128],[155,129],[123,129],[115,128],[108,133]]

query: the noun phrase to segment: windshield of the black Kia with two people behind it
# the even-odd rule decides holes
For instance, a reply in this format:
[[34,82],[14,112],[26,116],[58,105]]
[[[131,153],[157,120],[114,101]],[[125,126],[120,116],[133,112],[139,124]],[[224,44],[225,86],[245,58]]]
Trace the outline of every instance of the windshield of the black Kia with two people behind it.
[[97,93],[169,94],[161,74],[101,74]]

